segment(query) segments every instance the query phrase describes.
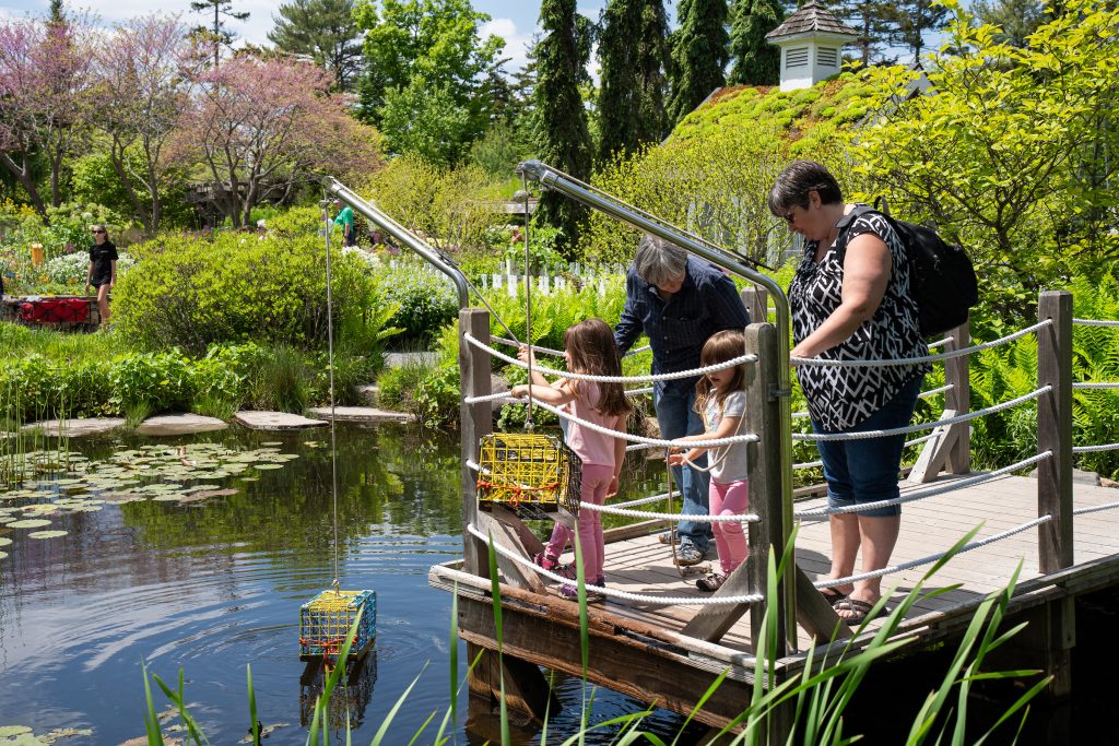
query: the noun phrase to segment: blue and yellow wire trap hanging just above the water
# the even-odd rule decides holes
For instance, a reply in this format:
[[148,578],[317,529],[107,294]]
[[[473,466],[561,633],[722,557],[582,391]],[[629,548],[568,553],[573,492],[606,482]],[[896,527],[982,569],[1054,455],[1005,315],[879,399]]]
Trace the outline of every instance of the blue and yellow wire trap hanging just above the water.
[[377,640],[375,591],[323,591],[299,608],[299,657],[337,659],[358,613],[361,622],[350,644],[358,658]]

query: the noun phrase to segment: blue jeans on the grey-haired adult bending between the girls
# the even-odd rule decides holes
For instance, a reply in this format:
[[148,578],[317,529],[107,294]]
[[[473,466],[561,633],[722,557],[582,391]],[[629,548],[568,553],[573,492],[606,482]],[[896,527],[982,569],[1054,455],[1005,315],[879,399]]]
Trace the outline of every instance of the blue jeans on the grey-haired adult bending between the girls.
[[[657,423],[660,425],[660,437],[673,440],[685,435],[698,435],[704,432],[703,417],[695,410],[695,381],[665,381],[655,387],[652,406],[657,409]],[[706,466],[707,456],[696,461],[696,465]],[[707,513],[707,489],[711,478],[707,472],[689,466],[670,466],[676,489],[683,497],[680,512],[690,514]],[[708,542],[714,538],[711,523],[697,521],[680,521],[680,546],[692,544],[699,551],[707,551]]]

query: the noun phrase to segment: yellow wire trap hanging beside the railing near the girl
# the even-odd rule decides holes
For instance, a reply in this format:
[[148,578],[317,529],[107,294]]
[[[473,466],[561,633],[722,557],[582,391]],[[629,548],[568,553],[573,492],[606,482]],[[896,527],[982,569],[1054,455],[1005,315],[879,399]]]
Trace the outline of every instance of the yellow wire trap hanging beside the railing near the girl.
[[492,433],[478,448],[478,508],[508,508],[523,518],[558,510],[579,516],[583,462],[561,438]]

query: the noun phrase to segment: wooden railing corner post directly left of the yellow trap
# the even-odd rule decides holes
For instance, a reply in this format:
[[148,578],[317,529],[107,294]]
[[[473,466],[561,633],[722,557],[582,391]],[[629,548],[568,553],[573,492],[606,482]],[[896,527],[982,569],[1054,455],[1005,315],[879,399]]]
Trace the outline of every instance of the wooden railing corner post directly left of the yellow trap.
[[480,527],[478,520],[478,476],[468,462],[478,461],[478,438],[493,429],[493,405],[489,402],[466,404],[468,396],[486,396],[490,388],[489,356],[463,339],[469,333],[486,344],[490,343],[489,311],[463,309],[459,311],[459,371],[463,402],[459,413],[462,422],[462,557],[463,569],[473,575],[489,577],[489,549],[474,538],[467,526]]

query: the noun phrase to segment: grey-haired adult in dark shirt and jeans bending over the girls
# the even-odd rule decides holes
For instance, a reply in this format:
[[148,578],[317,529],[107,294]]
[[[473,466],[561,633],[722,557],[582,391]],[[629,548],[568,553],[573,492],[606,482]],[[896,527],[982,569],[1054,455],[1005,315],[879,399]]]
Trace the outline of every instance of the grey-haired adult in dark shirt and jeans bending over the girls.
[[[750,314],[734,282],[718,267],[688,256],[684,248],[662,238],[647,235],[641,239],[626,275],[626,306],[614,328],[622,355],[643,332],[652,348],[653,374],[692,370],[699,367],[704,342],[712,334],[741,331],[749,323]],[[698,380],[699,376],[688,376],[653,384],[652,402],[662,438],[671,441],[704,431],[703,418],[695,410]],[[706,461],[702,455],[694,465],[671,466],[685,514],[707,512]],[[680,521],[677,560],[698,565],[712,536],[708,522]]]

